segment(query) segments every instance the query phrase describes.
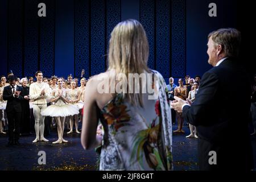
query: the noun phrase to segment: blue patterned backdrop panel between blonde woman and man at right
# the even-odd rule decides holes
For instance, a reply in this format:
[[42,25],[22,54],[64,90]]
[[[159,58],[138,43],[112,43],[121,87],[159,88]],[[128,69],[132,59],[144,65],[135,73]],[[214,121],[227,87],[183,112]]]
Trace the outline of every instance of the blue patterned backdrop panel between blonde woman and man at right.
[[141,0],[140,21],[148,36],[150,56],[148,66],[168,78],[184,77],[185,0]]

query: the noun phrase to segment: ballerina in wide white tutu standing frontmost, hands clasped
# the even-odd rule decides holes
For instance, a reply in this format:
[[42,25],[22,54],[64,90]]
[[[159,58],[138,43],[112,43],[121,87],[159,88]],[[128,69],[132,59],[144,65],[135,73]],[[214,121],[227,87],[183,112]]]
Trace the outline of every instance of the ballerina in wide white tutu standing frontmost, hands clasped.
[[68,140],[65,140],[63,138],[65,117],[79,114],[78,107],[67,104],[69,103],[69,100],[67,98],[67,90],[62,87],[62,84],[63,78],[58,78],[58,87],[52,90],[52,105],[48,106],[41,112],[41,114],[44,116],[55,117],[55,120],[57,122],[59,139],[57,139],[55,142],[52,142],[53,144],[68,142]]

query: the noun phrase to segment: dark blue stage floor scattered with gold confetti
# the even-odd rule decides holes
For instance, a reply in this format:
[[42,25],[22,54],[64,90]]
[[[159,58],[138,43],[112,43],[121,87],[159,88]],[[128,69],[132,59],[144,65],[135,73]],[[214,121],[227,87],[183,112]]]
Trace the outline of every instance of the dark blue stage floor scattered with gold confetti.
[[[177,126],[173,126],[176,130]],[[185,134],[173,136],[174,170],[197,170],[197,139],[185,138],[189,128],[184,125]],[[67,131],[65,131],[67,133]],[[20,146],[7,146],[7,135],[0,134],[0,170],[96,170],[98,159],[94,150],[85,151],[80,142],[80,134],[65,134],[68,143],[52,144],[57,140],[56,129],[46,137],[49,142],[32,143],[35,135],[20,137]],[[251,137],[256,166],[256,137]],[[46,152],[46,164],[39,165],[39,151]]]

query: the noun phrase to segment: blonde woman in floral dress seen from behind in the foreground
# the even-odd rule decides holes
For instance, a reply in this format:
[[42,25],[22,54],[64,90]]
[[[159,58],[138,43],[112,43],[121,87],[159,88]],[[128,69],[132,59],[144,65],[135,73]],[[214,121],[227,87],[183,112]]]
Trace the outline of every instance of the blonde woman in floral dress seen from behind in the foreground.
[[[172,169],[171,110],[166,84],[160,73],[147,67],[147,60],[148,42],[142,24],[133,19],[118,23],[109,42],[108,71],[90,78],[84,94],[81,143],[86,150],[102,145],[100,170]],[[128,84],[125,78],[129,73],[142,74],[146,80]],[[104,85],[105,81],[110,85]],[[114,88],[111,93],[112,84],[120,90]],[[149,92],[141,92],[146,84],[155,98]],[[106,92],[101,92],[102,88]],[[134,93],[136,89],[140,93]],[[99,120],[104,142],[97,132]]]

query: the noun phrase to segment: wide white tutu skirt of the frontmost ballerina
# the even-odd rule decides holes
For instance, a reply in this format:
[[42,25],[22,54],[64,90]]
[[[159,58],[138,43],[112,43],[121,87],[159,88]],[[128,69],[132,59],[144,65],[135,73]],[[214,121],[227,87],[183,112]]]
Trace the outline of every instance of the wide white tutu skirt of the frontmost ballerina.
[[79,114],[79,109],[75,105],[50,105],[41,111],[41,114],[49,117],[66,117]]

